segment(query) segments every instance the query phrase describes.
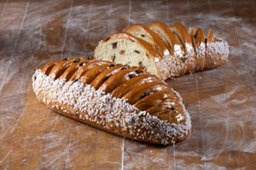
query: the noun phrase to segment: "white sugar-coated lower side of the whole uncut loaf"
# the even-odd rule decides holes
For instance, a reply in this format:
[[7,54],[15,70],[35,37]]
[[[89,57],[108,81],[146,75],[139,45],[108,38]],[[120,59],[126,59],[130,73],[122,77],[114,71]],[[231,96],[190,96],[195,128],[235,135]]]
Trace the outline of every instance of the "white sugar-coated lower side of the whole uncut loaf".
[[[117,99],[89,84],[79,81],[66,82],[65,79],[54,80],[40,70],[35,72],[32,81],[37,98],[44,104],[78,115],[81,120],[95,122],[106,130],[112,128],[115,133],[128,138],[135,135],[133,139],[170,144],[175,142],[174,137],[182,138],[191,128],[190,116],[184,106],[186,122],[183,125],[175,124],[162,121],[146,111],[139,111],[135,106],[128,104],[126,99]],[[183,105],[179,94],[177,97],[179,105]],[[65,105],[65,108],[59,108],[60,105]]]

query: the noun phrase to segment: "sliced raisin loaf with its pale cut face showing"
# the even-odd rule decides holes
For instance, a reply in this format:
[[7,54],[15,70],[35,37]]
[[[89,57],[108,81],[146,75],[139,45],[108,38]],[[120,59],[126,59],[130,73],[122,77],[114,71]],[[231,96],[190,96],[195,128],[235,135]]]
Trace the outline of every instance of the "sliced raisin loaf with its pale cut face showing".
[[95,59],[144,66],[162,80],[222,65],[229,55],[229,45],[215,37],[210,29],[207,39],[201,28],[186,28],[161,22],[149,26],[130,26],[125,33],[106,38],[95,49]]

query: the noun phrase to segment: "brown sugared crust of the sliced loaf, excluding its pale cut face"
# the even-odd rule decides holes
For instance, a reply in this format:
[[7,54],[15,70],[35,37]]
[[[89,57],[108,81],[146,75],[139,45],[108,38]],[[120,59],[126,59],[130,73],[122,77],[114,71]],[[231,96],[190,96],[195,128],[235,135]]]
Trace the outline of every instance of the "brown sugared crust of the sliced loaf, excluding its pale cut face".
[[[189,28],[187,31],[181,23],[175,23],[171,27],[161,22],[153,22],[149,26],[137,24],[125,31],[126,33],[114,34],[103,42],[111,38],[127,38],[142,44],[148,51],[147,57],[152,59],[150,62],[154,62],[157,68],[157,71],[152,73],[162,80],[215,68],[224,64],[229,55],[228,43],[215,37],[211,29],[208,31],[206,41],[201,28]],[[166,48],[172,57],[165,57]],[[97,57],[98,55],[95,55],[95,58]],[[51,65],[55,65],[54,63]]]

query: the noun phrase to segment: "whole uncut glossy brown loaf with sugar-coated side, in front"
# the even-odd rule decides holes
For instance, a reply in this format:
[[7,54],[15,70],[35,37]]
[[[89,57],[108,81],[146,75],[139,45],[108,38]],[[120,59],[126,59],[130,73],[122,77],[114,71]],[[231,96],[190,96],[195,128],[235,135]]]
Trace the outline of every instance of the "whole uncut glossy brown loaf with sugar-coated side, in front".
[[32,82],[54,111],[110,133],[154,144],[189,136],[180,95],[140,67],[75,57],[42,66]]

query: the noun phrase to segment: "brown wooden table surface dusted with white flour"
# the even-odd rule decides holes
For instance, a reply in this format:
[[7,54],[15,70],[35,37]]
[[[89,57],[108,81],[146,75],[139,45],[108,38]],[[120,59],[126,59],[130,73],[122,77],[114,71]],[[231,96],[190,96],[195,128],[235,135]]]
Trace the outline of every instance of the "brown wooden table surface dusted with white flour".
[[[186,141],[124,139],[50,111],[32,74],[52,59],[92,56],[102,38],[163,21],[212,28],[230,58],[167,81],[192,117]],[[256,169],[256,2],[224,0],[0,2],[0,169]]]

